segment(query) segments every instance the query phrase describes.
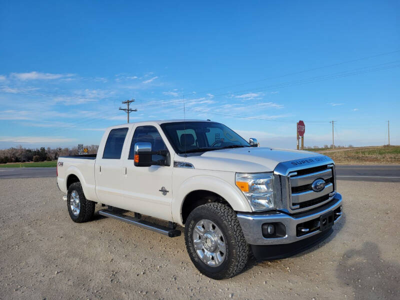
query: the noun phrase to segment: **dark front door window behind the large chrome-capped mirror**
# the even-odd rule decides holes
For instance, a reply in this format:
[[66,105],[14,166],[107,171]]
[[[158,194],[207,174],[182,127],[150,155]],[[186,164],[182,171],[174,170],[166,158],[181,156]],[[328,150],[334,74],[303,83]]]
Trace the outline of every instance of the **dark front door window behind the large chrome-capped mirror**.
[[[151,151],[166,150],[164,141],[159,134],[157,128],[154,126],[138,126],[134,130],[132,142],[130,143],[128,159],[134,159],[134,144],[136,142],[149,142],[151,143]],[[162,159],[161,155],[152,155],[152,160]]]

